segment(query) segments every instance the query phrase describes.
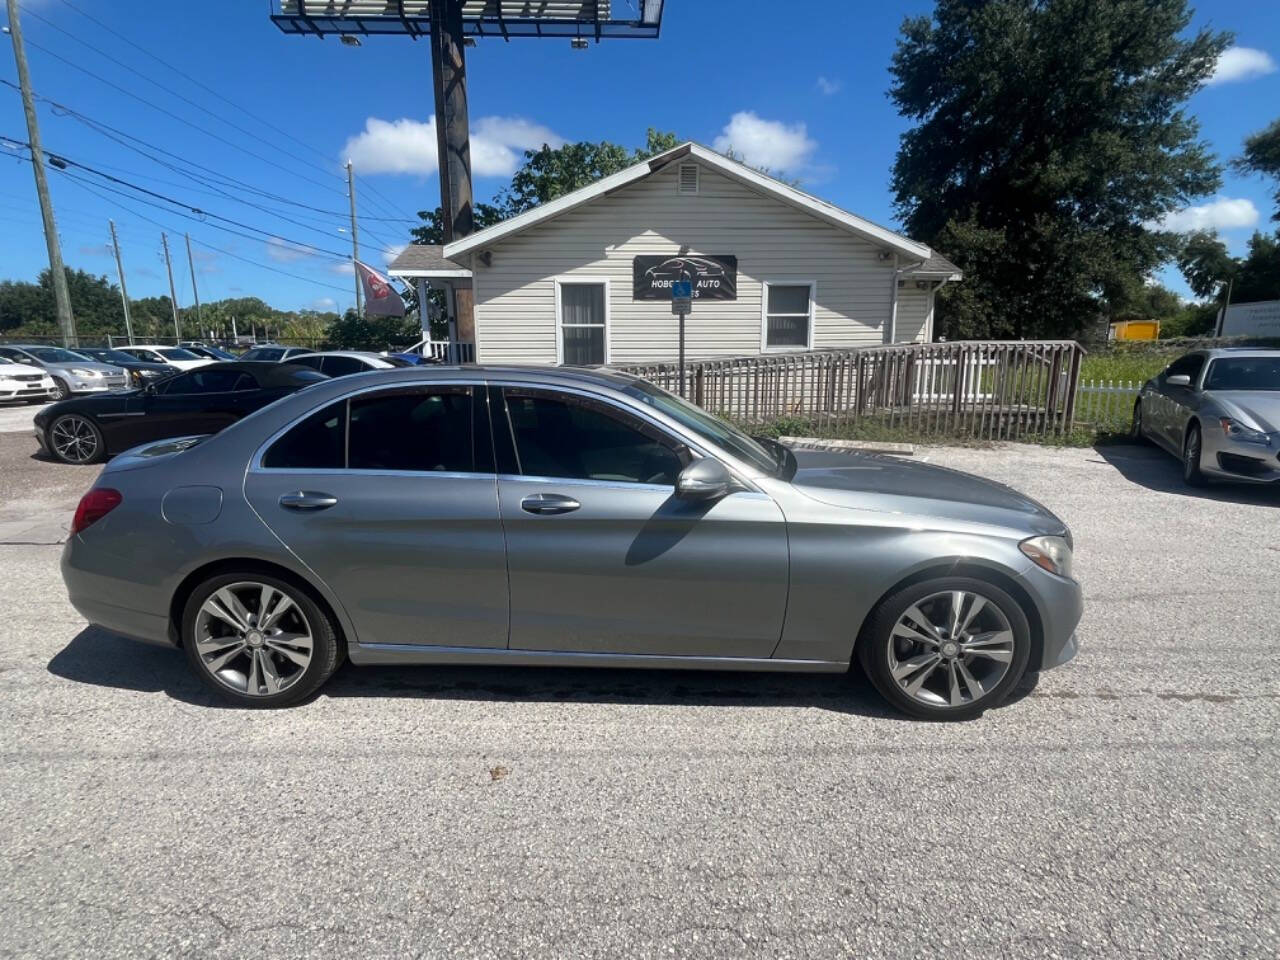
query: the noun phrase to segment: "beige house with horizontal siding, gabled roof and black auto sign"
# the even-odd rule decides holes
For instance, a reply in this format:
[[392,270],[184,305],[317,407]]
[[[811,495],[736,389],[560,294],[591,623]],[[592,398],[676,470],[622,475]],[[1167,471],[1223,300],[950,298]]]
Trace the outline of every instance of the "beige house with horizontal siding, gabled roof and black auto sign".
[[934,293],[960,279],[925,244],[698,143],[408,247],[389,273],[456,292],[457,339],[481,364],[675,360],[681,279],[690,360],[929,340]]

